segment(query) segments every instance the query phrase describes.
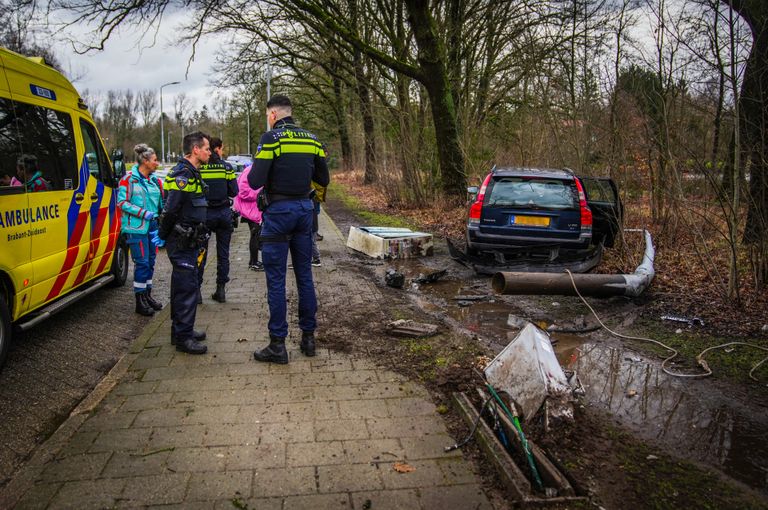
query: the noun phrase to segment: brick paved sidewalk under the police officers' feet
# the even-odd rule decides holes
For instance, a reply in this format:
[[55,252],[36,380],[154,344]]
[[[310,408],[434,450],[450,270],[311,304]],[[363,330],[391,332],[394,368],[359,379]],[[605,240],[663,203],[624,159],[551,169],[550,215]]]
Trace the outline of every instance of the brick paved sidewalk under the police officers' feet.
[[[321,231],[320,306],[381,299],[372,282],[336,267],[346,248],[325,215]],[[268,311],[247,244],[239,228],[226,304],[210,299],[209,259],[197,319],[208,354],[175,351],[166,307],[6,487],[0,507],[491,507],[471,464],[443,453],[455,441],[423,387],[322,344],[315,358],[298,351],[293,282],[290,364],[253,360]],[[415,470],[398,473],[396,461]]]

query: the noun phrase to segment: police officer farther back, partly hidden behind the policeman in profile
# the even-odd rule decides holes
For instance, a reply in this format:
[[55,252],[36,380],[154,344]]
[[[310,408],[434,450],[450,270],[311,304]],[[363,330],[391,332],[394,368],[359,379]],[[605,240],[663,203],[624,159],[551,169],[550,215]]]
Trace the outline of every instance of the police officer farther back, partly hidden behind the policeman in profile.
[[[208,185],[208,216],[206,225],[216,233],[216,292],[214,301],[227,301],[225,285],[229,281],[229,243],[232,239],[232,209],[230,197],[237,196],[237,176],[232,165],[222,159],[224,144],[221,138],[211,138],[211,158],[200,166],[200,175]],[[208,260],[208,243],[203,246],[203,262],[199,268],[198,283],[203,285],[203,273]]]

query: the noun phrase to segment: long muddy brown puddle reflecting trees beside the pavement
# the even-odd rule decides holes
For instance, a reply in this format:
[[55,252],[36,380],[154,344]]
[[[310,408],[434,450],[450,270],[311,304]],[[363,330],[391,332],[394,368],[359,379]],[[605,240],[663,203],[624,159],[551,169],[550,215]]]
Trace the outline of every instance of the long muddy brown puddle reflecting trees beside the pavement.
[[[377,272],[383,277],[387,267],[393,266]],[[433,271],[413,261],[394,267],[407,278]],[[438,281],[411,290],[425,311],[450,317],[497,351],[517,334],[507,317],[520,310],[495,298],[489,280]],[[669,376],[659,362],[633,351],[589,343],[585,336],[555,333],[552,339],[560,363],[577,371],[592,405],[645,439],[768,491],[768,413],[755,413],[710,381]]]

